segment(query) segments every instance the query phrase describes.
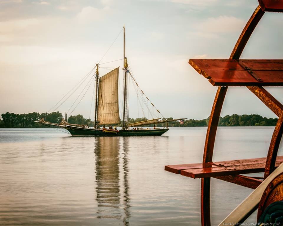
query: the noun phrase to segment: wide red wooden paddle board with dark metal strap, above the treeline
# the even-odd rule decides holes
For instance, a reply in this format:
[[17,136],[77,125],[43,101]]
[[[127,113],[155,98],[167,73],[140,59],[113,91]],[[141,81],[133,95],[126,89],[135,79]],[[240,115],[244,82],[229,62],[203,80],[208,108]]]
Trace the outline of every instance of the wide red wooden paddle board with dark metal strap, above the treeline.
[[190,59],[214,86],[282,86],[283,60]]

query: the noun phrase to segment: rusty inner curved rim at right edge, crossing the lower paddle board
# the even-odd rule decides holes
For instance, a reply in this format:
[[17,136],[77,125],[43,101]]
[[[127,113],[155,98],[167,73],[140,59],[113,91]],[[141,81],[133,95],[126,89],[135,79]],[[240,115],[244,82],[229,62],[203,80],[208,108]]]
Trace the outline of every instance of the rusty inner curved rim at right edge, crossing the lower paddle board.
[[269,145],[269,150],[268,150],[268,154],[266,158],[264,179],[268,177],[269,174],[271,174],[275,169],[277,153],[278,153],[282,135],[283,135],[283,111],[281,112],[281,115],[279,116],[274,132],[272,134],[272,139]]

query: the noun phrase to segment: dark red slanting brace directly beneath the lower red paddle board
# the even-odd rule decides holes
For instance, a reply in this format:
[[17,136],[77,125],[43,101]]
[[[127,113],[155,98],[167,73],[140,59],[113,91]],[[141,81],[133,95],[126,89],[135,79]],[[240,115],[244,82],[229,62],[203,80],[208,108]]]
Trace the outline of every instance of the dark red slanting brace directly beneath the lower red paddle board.
[[243,176],[243,175],[215,176],[214,178],[252,189],[256,189],[262,182],[259,179],[254,179],[252,177]]

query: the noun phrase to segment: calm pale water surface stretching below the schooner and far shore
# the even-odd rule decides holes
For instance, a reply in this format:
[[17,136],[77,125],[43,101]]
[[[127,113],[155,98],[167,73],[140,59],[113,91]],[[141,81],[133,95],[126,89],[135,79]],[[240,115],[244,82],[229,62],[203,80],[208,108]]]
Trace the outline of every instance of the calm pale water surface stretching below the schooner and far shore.
[[[201,162],[206,129],[153,137],[0,129],[0,225],[200,225],[200,179],[164,165]],[[273,129],[219,128],[213,160],[265,157]],[[218,179],[211,187],[212,225],[252,191]]]

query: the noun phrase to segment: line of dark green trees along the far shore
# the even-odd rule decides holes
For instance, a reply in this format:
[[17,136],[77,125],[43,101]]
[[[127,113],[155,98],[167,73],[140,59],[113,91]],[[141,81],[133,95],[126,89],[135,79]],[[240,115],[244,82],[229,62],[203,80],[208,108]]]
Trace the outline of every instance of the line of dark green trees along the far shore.
[[[32,112],[28,114],[15,114],[15,113],[3,113],[0,117],[0,128],[34,128],[40,127],[39,123],[34,121],[44,118],[45,121],[51,123],[60,123],[63,115],[61,113],[37,113]],[[167,120],[173,119],[167,118]],[[139,121],[148,120],[147,118],[128,118],[128,123],[134,123]],[[166,118],[162,118],[166,120]],[[275,126],[278,118],[266,118],[260,115],[226,115],[219,118],[218,126]],[[89,127],[94,126],[94,122],[89,118],[84,118],[82,115],[75,115],[68,117],[68,123],[78,125],[88,125]],[[188,119],[184,120],[184,124],[180,124],[179,121],[169,122],[169,126],[208,126],[209,118],[202,120]],[[120,123],[121,124],[121,123]],[[108,126],[108,125],[106,125]],[[153,126],[153,125],[148,125]],[[157,126],[165,126],[165,123],[158,123]]]

